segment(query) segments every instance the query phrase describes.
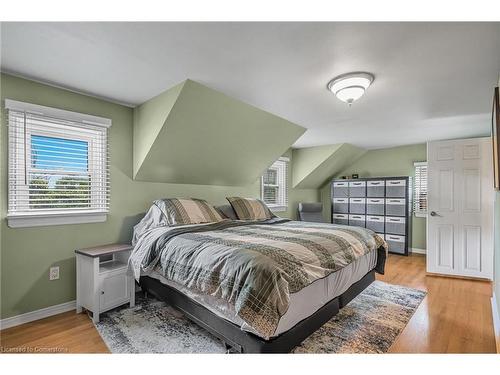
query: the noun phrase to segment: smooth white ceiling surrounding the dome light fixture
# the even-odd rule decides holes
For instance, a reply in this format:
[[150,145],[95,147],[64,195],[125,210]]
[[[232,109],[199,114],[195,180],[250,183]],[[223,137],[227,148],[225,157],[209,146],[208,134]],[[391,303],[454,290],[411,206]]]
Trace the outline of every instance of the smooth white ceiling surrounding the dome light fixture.
[[[309,130],[298,147],[487,135],[500,23],[2,23],[1,68],[131,106],[190,78]],[[326,90],[375,75],[352,107]]]

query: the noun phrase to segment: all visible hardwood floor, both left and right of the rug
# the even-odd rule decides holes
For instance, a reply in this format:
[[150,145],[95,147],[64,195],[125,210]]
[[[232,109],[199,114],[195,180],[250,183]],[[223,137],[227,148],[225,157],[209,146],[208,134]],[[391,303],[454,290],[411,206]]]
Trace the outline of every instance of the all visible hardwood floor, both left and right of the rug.
[[[427,291],[392,353],[495,353],[491,283],[425,274],[425,256],[389,255],[379,280]],[[67,312],[0,332],[3,352],[107,353],[86,314]]]

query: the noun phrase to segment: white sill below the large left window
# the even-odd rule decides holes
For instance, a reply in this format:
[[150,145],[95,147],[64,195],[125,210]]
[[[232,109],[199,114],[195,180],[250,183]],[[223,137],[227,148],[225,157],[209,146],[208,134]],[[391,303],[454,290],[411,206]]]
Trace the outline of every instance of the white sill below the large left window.
[[106,221],[107,213],[91,212],[50,212],[23,213],[7,215],[10,228],[42,227],[48,225],[101,223]]

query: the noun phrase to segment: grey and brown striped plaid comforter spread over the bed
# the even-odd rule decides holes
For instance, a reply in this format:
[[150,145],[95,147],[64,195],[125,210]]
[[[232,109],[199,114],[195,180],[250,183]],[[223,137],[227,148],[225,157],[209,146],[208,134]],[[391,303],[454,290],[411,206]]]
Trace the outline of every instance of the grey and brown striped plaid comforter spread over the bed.
[[222,298],[266,339],[286,313],[291,293],[386,246],[364,228],[280,218],[141,226],[134,242],[129,267],[136,279],[155,269],[168,280]]

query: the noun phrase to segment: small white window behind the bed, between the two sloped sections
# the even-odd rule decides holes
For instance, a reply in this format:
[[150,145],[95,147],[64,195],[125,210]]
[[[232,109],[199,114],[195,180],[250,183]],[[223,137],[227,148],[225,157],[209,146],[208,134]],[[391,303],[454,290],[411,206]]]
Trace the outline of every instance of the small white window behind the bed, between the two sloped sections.
[[261,199],[273,211],[288,208],[288,158],[280,158],[262,176]]

